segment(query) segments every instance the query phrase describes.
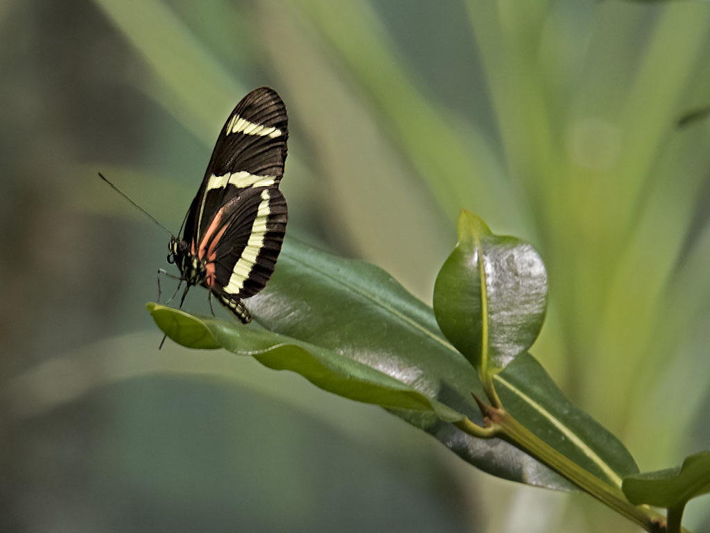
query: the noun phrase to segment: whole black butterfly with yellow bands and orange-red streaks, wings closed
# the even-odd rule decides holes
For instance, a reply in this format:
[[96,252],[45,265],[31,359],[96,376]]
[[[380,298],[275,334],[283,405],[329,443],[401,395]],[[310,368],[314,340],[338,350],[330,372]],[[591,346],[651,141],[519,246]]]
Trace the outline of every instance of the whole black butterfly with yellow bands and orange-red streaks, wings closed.
[[261,291],[271,277],[288,222],[279,190],[287,140],[286,107],[271,87],[259,87],[236,104],[178,232],[182,235],[173,235],[168,244],[168,263],[178,266],[180,276],[158,271],[158,299],[160,274],[166,274],[187,284],[180,307],[190,287],[201,285],[209,290],[210,308],[214,296],[241,322],[251,321],[242,300]]

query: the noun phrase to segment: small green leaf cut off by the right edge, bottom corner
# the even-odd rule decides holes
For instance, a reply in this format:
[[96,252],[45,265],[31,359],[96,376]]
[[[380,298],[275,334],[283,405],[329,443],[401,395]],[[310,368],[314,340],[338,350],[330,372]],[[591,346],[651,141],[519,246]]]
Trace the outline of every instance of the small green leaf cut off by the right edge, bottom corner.
[[689,456],[675,468],[630,475],[622,489],[635,505],[682,507],[691,498],[710,492],[710,451]]

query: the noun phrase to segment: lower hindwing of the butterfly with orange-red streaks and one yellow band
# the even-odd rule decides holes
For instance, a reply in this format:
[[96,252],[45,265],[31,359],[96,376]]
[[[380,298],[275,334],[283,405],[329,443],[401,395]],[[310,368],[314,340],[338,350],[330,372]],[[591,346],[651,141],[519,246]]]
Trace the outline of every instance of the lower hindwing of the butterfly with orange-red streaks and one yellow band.
[[200,243],[207,287],[222,303],[261,291],[273,273],[288,222],[278,188],[242,190],[217,212]]

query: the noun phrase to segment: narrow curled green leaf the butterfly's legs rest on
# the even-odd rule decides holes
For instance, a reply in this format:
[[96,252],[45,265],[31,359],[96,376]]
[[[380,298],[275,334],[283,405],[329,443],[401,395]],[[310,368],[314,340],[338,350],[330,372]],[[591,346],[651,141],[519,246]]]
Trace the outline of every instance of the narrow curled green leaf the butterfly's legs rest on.
[[251,355],[266,367],[293,370],[321,389],[358,402],[427,411],[447,422],[464,419],[397,379],[331,350],[260,328],[198,318],[157,303],[148,303],[147,308],[163,333],[187,348],[226,348],[237,355]]

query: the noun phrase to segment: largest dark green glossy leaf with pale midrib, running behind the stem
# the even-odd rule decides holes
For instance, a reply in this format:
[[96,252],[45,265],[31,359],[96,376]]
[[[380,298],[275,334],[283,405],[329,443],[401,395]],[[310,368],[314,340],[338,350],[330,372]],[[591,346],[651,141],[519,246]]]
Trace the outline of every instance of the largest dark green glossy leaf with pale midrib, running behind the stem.
[[[444,338],[432,308],[382,269],[320,252],[287,237],[271,281],[247,304],[256,321],[268,325],[273,333],[288,335],[288,340],[279,337],[283,342],[301,341],[359,362],[481,424],[471,397],[471,392],[483,394],[476,371]],[[232,343],[232,348],[244,342],[247,330],[254,329],[253,325],[215,321],[220,324],[217,328],[212,321],[204,318],[216,338],[228,346]],[[282,364],[288,365],[288,357]],[[535,377],[534,384],[526,379],[528,375]],[[593,472],[614,473],[607,478],[621,479],[638,471],[621,443],[578,407],[561,401],[564,397],[532,356],[518,357],[496,381],[513,415],[553,446],[567,443],[564,453],[580,465]],[[573,488],[504,441],[471,437],[433,411],[390,410],[488,473],[557,490]]]

